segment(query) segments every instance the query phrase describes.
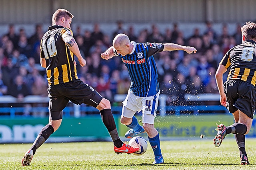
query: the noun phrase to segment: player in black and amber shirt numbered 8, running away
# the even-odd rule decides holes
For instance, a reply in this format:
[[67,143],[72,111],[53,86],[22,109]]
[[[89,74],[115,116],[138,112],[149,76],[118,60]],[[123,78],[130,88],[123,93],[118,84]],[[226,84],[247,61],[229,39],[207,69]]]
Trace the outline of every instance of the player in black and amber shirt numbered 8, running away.
[[[235,123],[218,125],[214,145],[219,147],[224,137],[235,134],[241,164],[250,164],[245,150],[245,135],[249,133],[256,109],[256,24],[247,22],[241,28],[242,44],[230,49],[220,61],[216,82],[220,103],[234,115]],[[223,84],[223,74],[230,68],[228,80]]]

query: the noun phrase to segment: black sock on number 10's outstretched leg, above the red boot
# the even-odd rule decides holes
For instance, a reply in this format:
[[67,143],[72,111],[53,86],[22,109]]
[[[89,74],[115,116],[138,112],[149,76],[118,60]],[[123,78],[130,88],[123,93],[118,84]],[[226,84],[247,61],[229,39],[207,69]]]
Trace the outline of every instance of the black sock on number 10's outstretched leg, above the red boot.
[[104,125],[108,129],[108,132],[110,134],[110,137],[112,138],[114,145],[118,148],[122,147],[123,142],[119,138],[119,135],[116,129],[116,123],[112,115],[111,109],[102,109],[100,111],[100,115]]

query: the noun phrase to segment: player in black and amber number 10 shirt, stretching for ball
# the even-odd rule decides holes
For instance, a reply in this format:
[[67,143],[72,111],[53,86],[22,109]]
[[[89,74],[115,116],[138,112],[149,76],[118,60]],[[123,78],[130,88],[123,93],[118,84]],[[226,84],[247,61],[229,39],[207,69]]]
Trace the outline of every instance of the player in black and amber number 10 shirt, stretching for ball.
[[122,152],[131,154],[138,151],[138,148],[124,144],[120,140],[110,102],[78,79],[74,55],[81,66],[85,66],[86,61],[80,54],[70,29],[72,18],[73,15],[68,10],[56,10],[52,16],[52,26],[48,27],[48,31],[42,37],[40,63],[46,68],[50,121],[42,128],[32,147],[25,153],[22,166],[30,165],[36,149],[60,127],[62,110],[69,101],[79,105],[84,103],[100,110],[102,121],[108,129],[117,154]]

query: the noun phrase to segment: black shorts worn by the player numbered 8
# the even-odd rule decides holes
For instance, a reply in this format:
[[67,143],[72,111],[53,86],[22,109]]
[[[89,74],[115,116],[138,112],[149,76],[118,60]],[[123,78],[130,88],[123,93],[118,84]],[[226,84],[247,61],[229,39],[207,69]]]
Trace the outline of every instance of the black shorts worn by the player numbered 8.
[[256,109],[256,88],[242,80],[228,80],[224,83],[227,109],[234,113],[238,109],[253,119]]

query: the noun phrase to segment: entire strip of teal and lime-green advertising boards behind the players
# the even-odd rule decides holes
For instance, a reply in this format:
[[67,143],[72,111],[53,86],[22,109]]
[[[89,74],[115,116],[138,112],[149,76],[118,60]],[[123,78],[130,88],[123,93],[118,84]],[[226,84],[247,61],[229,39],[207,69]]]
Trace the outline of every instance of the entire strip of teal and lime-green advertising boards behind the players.
[[[114,116],[120,137],[129,129],[120,123],[120,116]],[[137,117],[142,125],[142,118]],[[0,143],[32,143],[38,133],[48,123],[48,119],[40,118],[16,118],[0,119]],[[217,124],[231,125],[233,116],[226,114],[210,115],[168,115],[157,116],[155,127],[161,137],[214,137]],[[142,135],[146,138],[146,133]],[[256,123],[248,137],[256,137]],[[92,115],[80,118],[64,117],[60,128],[52,134],[48,142],[69,141],[96,141],[111,140],[108,131],[102,123],[100,115]]]

